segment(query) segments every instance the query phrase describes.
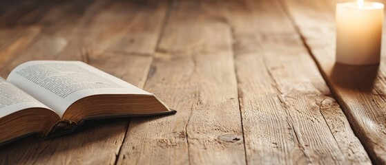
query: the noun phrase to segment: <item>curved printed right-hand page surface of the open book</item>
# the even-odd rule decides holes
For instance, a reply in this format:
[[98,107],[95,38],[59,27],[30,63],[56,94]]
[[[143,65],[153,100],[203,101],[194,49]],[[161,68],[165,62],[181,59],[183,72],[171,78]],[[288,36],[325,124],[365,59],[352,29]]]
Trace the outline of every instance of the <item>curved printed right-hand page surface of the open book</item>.
[[80,61],[30,61],[12,70],[8,81],[56,111],[97,94],[153,95]]

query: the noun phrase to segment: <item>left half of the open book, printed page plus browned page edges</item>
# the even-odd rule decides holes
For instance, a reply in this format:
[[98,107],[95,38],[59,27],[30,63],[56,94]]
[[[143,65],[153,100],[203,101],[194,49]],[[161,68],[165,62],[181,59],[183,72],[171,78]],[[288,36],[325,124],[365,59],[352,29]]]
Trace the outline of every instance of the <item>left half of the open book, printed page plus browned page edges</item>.
[[31,133],[46,136],[59,120],[55,111],[0,78],[0,145]]

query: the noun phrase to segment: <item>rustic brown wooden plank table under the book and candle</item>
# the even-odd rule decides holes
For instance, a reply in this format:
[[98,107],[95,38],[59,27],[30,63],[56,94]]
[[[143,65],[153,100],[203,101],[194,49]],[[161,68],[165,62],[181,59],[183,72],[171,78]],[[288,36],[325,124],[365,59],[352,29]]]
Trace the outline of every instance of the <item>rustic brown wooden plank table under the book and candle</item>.
[[0,164],[386,164],[386,57],[334,63],[336,2],[2,1],[1,76],[81,60],[178,113],[26,137]]

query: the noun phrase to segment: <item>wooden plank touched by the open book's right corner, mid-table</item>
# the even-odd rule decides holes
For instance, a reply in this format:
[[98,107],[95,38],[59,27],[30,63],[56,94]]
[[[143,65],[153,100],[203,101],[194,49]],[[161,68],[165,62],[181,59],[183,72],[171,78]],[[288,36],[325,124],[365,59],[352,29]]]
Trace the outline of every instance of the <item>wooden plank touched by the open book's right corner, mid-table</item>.
[[174,1],[146,81],[177,114],[132,120],[118,164],[245,164],[231,28]]

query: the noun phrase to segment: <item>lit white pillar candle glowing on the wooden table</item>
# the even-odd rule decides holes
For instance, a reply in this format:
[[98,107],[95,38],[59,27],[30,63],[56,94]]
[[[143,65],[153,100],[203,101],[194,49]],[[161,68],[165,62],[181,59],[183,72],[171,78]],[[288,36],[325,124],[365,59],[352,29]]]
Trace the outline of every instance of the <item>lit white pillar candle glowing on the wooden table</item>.
[[380,61],[383,4],[346,2],[336,5],[336,62],[371,65]]

